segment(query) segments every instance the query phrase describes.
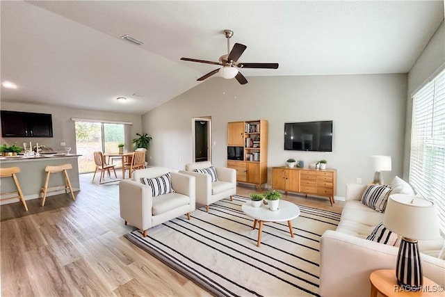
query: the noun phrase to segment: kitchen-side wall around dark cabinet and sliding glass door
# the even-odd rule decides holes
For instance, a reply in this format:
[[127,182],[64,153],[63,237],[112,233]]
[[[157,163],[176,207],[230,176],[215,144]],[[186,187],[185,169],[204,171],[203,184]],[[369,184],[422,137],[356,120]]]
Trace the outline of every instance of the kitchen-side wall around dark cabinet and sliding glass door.
[[[132,122],[131,138],[136,138],[136,133],[141,132],[141,117],[140,115],[131,115],[126,113],[110,113],[106,111],[88,111],[85,109],[68,109],[58,106],[44,106],[37,104],[24,104],[15,102],[1,102],[1,109],[5,111],[26,111],[30,113],[51,113],[53,120],[53,137],[28,137],[16,138],[8,137],[1,138],[1,143],[8,143],[12,145],[17,142],[17,145],[22,146],[24,142],[29,141],[39,143],[51,147],[54,151],[62,151],[65,147],[60,146],[60,142],[64,141],[66,145],[72,146],[72,153],[75,152],[76,144],[76,129],[71,118],[86,118],[92,120],[113,120],[122,122]],[[1,134],[0,134],[1,135]],[[131,143],[129,143],[131,145]]]

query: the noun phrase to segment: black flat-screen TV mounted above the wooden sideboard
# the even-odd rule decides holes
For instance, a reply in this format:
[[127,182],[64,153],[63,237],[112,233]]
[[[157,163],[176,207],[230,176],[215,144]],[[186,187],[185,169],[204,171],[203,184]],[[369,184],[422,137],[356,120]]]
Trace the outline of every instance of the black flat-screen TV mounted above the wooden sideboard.
[[284,150],[332,152],[332,120],[285,122]]

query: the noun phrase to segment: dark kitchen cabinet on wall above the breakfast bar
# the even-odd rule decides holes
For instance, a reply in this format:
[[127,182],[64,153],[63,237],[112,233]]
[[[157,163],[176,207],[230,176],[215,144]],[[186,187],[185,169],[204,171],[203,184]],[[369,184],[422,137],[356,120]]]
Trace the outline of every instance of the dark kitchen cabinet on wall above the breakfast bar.
[[1,111],[3,137],[53,137],[52,116],[49,113]]

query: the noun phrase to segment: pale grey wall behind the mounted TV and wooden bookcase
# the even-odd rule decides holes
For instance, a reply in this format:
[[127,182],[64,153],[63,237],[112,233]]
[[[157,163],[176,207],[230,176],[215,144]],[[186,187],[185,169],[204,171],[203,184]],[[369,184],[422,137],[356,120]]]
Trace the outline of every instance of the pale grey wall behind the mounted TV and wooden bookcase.
[[[406,74],[332,75],[310,77],[248,77],[241,86],[234,79],[214,77],[188,90],[142,118],[151,134],[149,163],[183,169],[192,161],[191,119],[211,116],[213,164],[226,165],[227,122],[268,120],[268,185],[273,166],[293,157],[309,163],[326,159],[337,168],[337,195],[345,184],[362,177],[371,182],[370,156],[392,156],[387,182],[401,175],[407,94]],[[284,151],[284,122],[334,120],[333,152]]]

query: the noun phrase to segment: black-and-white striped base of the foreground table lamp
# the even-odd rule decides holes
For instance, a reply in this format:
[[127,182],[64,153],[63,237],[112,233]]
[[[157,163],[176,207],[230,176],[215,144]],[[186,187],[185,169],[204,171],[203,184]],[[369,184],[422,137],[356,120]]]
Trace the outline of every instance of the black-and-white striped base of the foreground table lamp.
[[423,285],[422,263],[417,241],[402,238],[398,249],[396,276],[405,291],[418,291]]

